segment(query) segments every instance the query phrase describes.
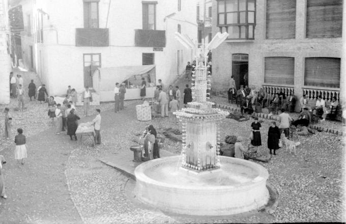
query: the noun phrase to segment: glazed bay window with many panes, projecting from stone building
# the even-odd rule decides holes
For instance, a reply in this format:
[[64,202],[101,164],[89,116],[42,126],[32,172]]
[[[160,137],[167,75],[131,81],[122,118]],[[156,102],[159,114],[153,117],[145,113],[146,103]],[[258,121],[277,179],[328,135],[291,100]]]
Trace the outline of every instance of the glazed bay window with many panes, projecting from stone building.
[[255,0],[219,0],[217,24],[228,39],[254,39]]

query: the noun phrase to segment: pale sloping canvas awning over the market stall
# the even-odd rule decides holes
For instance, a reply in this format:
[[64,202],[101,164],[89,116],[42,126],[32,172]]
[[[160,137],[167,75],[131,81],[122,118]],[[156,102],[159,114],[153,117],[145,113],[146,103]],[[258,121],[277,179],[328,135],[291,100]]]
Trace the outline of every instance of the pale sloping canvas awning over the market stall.
[[111,91],[116,82],[122,83],[133,75],[151,73],[154,68],[155,65],[98,68],[93,74],[93,87],[96,91]]

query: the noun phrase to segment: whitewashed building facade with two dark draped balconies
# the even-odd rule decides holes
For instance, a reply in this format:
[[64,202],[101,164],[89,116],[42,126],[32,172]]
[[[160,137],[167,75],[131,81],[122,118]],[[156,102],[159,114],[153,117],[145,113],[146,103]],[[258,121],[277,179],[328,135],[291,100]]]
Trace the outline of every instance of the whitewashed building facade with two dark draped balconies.
[[[178,1],[23,0],[23,62],[49,95],[92,87],[97,68],[155,65],[166,84],[192,60],[175,32],[197,41],[196,3]],[[157,84],[157,82],[156,82]],[[114,83],[115,85],[115,83]]]

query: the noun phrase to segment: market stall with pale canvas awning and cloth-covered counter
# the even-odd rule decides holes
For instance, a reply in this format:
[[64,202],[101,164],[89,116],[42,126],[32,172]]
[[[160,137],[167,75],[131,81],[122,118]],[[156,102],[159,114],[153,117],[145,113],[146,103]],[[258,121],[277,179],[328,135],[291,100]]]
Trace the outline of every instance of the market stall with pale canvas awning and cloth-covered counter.
[[145,78],[146,98],[153,98],[156,89],[155,65],[98,68],[93,74],[93,88],[101,102],[114,101],[116,82],[125,83],[125,100],[141,99],[140,86]]

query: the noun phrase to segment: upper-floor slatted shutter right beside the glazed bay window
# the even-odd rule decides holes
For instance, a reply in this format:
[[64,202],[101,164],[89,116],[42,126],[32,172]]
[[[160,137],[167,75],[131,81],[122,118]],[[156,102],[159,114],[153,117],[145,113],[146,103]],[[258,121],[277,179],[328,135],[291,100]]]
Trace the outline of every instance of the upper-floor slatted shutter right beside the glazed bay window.
[[267,0],[267,39],[296,37],[296,0]]

